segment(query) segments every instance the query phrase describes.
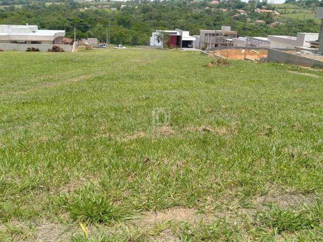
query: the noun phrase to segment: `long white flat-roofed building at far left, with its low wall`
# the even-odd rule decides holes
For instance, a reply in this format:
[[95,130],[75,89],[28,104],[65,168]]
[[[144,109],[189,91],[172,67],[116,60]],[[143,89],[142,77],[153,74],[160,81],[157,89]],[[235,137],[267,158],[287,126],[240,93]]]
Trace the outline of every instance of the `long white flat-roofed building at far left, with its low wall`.
[[65,30],[40,30],[37,25],[0,25],[0,48],[25,51],[34,47],[47,51],[58,45],[65,51],[71,51],[71,46],[64,44],[64,36]]

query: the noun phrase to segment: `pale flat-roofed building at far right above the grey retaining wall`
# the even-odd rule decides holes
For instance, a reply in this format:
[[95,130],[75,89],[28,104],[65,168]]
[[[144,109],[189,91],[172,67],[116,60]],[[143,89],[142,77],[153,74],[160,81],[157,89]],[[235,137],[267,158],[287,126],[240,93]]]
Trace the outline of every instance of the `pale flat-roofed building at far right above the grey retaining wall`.
[[296,47],[309,47],[310,41],[318,39],[318,33],[297,33],[297,36],[268,35],[271,48],[294,49]]

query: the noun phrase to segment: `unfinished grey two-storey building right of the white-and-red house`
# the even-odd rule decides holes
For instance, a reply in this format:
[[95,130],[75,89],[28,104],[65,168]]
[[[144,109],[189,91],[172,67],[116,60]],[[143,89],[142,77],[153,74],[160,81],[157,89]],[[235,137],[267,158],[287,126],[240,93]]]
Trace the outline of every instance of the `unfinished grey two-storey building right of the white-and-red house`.
[[233,46],[233,38],[237,38],[237,36],[237,31],[232,31],[230,26],[222,26],[221,30],[200,30],[200,35],[194,35],[197,39],[194,42],[194,48]]

